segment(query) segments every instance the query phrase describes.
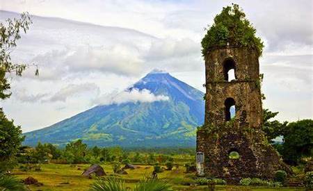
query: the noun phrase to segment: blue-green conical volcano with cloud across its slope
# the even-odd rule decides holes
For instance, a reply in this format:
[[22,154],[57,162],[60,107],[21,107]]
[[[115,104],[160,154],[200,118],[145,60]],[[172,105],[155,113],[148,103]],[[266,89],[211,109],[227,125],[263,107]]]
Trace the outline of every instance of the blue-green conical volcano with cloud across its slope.
[[203,92],[167,72],[150,72],[125,92],[149,90],[168,100],[99,105],[61,122],[24,133],[24,144],[65,145],[82,139],[102,147],[194,147],[196,127],[204,122]]

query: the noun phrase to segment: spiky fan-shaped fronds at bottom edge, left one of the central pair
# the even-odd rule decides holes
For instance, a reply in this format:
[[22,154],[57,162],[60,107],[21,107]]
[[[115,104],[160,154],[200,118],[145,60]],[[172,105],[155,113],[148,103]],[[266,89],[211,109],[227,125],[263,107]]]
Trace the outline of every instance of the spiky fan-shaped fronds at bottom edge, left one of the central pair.
[[106,177],[95,181],[90,191],[127,191],[127,188],[125,181],[115,177]]

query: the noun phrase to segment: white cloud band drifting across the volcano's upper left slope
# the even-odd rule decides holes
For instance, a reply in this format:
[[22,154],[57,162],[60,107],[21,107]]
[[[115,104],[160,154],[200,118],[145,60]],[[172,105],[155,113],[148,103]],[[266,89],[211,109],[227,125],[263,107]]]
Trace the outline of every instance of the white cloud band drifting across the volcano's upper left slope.
[[94,100],[94,103],[100,105],[120,104],[127,102],[154,102],[154,101],[168,101],[169,97],[165,95],[155,95],[150,90],[138,90],[132,88],[131,90],[125,90],[119,93],[104,94],[102,97],[98,97]]

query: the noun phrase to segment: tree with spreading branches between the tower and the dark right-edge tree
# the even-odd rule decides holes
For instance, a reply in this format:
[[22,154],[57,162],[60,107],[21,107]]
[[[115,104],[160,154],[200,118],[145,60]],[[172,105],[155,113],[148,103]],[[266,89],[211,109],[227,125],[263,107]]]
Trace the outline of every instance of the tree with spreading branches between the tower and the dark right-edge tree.
[[278,120],[271,120],[278,112],[271,112],[266,109],[263,110],[263,126],[262,130],[266,133],[266,137],[269,142],[273,142],[273,139],[284,135],[288,122],[280,123]]

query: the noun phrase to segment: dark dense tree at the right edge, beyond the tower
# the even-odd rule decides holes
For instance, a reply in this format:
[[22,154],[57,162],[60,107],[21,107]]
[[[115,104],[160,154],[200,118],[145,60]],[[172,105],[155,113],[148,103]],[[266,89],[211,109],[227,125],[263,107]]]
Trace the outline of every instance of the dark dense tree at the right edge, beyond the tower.
[[291,122],[284,133],[282,157],[290,165],[298,164],[300,158],[313,156],[313,120]]

